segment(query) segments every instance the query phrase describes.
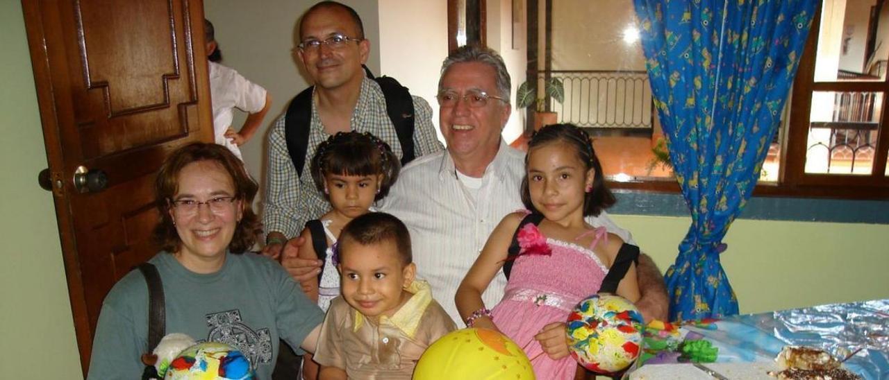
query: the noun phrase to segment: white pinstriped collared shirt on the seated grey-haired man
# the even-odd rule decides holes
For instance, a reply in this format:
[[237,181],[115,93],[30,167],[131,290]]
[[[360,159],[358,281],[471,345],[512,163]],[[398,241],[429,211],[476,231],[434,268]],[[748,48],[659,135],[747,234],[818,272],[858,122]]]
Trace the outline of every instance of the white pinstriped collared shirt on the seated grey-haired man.
[[[453,159],[445,150],[405,166],[380,206],[407,225],[417,275],[429,282],[432,294],[454,321],[461,321],[453,300],[457,287],[488,236],[502,218],[525,208],[520,194],[524,177],[525,153],[501,140],[473,197],[457,178]],[[629,232],[614,225],[604,211],[587,221],[631,241]],[[500,302],[505,287],[506,277],[498,273],[482,295],[488,308]]]

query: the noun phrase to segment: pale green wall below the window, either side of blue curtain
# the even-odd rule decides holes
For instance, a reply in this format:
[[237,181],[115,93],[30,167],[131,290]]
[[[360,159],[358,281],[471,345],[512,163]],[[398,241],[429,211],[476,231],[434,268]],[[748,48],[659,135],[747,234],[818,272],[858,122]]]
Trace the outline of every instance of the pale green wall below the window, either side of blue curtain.
[[[691,218],[618,215],[666,272]],[[725,236],[741,313],[889,298],[889,225],[741,219]]]

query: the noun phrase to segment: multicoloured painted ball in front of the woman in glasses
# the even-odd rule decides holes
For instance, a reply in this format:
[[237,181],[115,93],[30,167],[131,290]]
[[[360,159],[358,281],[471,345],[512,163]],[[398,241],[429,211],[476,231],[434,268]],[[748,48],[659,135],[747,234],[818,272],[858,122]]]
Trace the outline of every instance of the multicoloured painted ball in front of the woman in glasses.
[[164,375],[166,380],[252,378],[250,360],[235,347],[219,342],[204,342],[188,347],[170,362]]

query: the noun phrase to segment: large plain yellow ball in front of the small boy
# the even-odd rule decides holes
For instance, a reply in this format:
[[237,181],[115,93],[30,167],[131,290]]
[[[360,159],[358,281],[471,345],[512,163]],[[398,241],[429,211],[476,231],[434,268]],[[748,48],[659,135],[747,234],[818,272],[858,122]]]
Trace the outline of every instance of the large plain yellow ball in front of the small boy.
[[531,362],[512,340],[492,329],[460,329],[429,346],[414,380],[534,378]]

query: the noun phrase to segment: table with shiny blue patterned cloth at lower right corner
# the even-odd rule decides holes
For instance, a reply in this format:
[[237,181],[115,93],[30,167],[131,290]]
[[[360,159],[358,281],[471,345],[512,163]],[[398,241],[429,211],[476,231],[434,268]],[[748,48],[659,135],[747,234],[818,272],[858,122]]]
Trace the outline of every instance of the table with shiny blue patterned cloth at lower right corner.
[[[844,367],[864,379],[889,379],[889,299],[734,315],[661,331],[668,340],[702,338],[716,347],[716,361],[702,363],[704,369],[684,364],[685,358],[677,352],[655,347],[657,334],[652,329],[646,332],[655,339],[645,339],[643,349],[648,354],[629,368],[625,378],[769,378],[766,372],[777,369],[774,358],[781,349],[803,345],[821,348],[837,359],[861,348]],[[717,375],[708,374],[708,368]]]

